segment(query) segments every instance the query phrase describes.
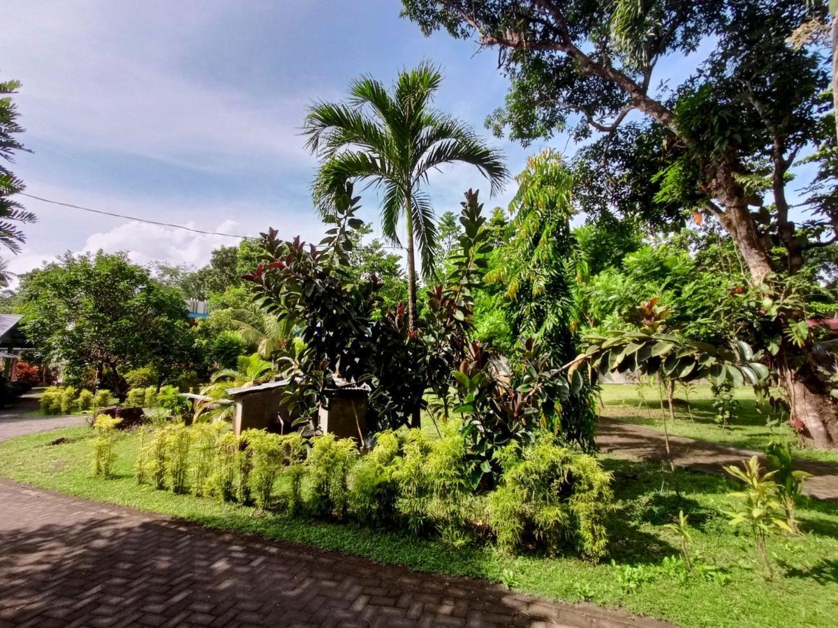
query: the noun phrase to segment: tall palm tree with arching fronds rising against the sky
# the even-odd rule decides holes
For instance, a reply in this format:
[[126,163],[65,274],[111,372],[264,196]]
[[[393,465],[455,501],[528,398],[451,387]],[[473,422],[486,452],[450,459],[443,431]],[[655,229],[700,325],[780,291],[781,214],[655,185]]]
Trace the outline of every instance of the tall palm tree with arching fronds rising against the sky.
[[400,72],[391,92],[362,77],[350,85],[347,103],[316,103],[304,126],[308,149],[321,159],[313,193],[322,214],[333,211],[333,199],[347,181],[365,179],[382,192],[382,231],[396,245],[396,226],[404,217],[411,329],[416,329],[414,241],[424,275],[432,270],[437,244],[431,200],[420,186],[430,172],[453,162],[477,167],[493,194],[509,177],[499,152],[463,122],[432,109],[441,80],[430,64]]

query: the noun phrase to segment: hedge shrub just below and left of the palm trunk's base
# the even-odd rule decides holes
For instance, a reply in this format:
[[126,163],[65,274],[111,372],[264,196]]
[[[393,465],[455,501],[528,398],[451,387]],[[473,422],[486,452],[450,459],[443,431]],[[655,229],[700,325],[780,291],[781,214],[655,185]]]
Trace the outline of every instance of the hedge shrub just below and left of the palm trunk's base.
[[380,433],[375,448],[355,466],[349,490],[349,504],[360,522],[373,526],[389,525],[396,519],[399,484],[396,457],[399,439],[390,430]]

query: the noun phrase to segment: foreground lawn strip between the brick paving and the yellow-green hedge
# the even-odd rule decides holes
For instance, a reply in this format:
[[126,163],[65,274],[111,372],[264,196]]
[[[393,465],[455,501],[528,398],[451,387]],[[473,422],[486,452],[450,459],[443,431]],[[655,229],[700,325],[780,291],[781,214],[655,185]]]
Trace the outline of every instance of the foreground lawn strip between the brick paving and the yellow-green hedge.
[[[50,445],[58,438],[65,441]],[[755,562],[751,539],[727,525],[723,513],[736,506],[727,493],[739,486],[723,477],[681,471],[682,493],[675,497],[661,466],[603,457],[603,465],[613,472],[617,497],[608,524],[614,564],[590,564],[572,556],[504,556],[490,546],[452,548],[437,540],[282,512],[256,516],[250,507],[156,491],[133,479],[137,440],[133,434],[120,436],[116,477],[100,480],[91,475],[89,428],[19,437],[0,443],[0,475],[215,528],[360,554],[411,569],[505,582],[553,599],[622,607],[678,625],[834,625],[838,504],[802,500],[799,519],[806,535],[769,539],[777,576],[767,581]],[[665,568],[664,559],[678,553],[678,539],[665,523],[680,509],[690,517],[693,548],[701,564],[718,569],[715,576],[682,583]]]

